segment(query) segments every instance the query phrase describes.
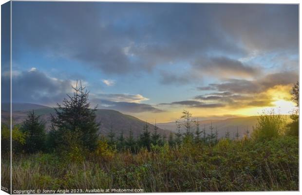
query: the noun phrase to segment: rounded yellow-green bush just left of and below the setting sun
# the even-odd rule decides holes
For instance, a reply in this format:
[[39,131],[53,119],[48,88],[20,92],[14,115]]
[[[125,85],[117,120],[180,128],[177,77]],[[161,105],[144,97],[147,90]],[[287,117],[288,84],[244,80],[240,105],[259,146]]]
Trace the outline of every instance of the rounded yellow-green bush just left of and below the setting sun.
[[275,114],[274,110],[263,112],[259,117],[252,137],[258,140],[269,140],[279,137],[284,133],[285,121],[280,114]]

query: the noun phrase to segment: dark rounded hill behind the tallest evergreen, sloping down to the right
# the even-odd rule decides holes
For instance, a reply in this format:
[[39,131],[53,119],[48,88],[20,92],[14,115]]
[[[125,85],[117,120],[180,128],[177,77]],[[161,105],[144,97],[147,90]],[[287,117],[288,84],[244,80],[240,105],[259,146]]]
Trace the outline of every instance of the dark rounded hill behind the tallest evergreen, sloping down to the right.
[[[34,110],[34,112],[40,116],[41,120],[46,123],[46,129],[49,131],[51,126],[51,115],[55,114],[55,109],[47,106],[42,106],[38,104],[27,104],[27,103],[13,103],[12,106],[13,114],[13,124],[20,124],[27,117],[29,112]],[[23,109],[23,110],[22,110]],[[118,137],[121,132],[124,133],[125,137],[129,136],[130,129],[132,129],[133,136],[137,137],[143,131],[143,126],[146,124],[145,121],[140,120],[139,118],[132,117],[130,115],[122,114],[115,110],[106,110],[106,109],[97,109],[96,110],[96,120],[100,122],[99,133],[101,135],[106,135],[111,126],[113,127],[113,132],[115,136]],[[2,122],[9,120],[8,112],[2,111]],[[154,125],[148,123],[149,131],[152,133],[154,131]],[[159,128],[158,133],[168,137],[170,134],[169,130],[163,130]]]

